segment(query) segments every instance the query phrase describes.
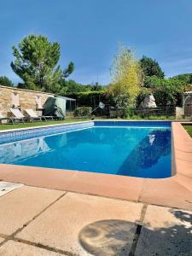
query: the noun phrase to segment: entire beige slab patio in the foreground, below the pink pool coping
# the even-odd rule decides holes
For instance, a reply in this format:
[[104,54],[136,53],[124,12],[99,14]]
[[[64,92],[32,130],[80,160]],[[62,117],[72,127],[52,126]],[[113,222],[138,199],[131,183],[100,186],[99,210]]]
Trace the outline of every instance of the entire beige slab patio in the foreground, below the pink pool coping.
[[0,255],[192,255],[192,212],[23,186],[0,197]]

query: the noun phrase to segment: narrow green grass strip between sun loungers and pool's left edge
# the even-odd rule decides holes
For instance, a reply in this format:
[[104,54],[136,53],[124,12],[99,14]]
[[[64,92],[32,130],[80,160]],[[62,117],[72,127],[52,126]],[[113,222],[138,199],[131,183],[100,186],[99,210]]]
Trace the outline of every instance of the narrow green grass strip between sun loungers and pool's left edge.
[[80,119],[80,118],[68,118],[65,120],[56,120],[56,121],[47,121],[47,122],[33,122],[33,123],[17,123],[17,124],[1,124],[0,130],[9,130],[9,129],[19,129],[19,128],[28,128],[28,127],[35,127],[35,126],[41,126],[41,125],[61,125],[61,124],[67,124],[67,123],[73,123],[78,121],[89,121],[90,119]]

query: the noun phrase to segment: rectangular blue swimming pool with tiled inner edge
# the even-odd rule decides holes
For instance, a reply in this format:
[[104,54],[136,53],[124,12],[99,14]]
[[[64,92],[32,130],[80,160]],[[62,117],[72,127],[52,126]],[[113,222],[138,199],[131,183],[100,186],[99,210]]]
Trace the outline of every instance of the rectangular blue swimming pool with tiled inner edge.
[[90,121],[9,131],[0,134],[0,144],[0,163],[171,176],[171,122],[166,121]]

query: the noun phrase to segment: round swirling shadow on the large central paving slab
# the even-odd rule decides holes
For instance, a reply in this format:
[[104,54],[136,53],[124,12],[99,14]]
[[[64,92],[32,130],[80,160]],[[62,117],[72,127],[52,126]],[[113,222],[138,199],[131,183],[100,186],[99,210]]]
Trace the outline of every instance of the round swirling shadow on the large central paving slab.
[[125,220],[101,220],[85,226],[79,233],[79,241],[87,252],[96,256],[127,255],[136,229],[137,224]]

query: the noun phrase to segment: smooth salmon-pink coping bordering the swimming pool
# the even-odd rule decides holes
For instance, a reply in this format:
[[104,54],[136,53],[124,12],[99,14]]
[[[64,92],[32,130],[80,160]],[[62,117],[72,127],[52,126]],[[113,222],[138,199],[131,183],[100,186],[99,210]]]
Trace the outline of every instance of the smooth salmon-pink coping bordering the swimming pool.
[[172,122],[172,163],[174,175],[156,179],[0,164],[0,180],[192,210],[192,138],[181,122]]

